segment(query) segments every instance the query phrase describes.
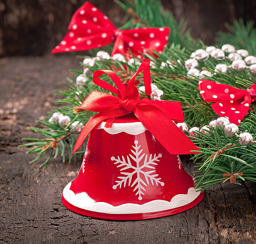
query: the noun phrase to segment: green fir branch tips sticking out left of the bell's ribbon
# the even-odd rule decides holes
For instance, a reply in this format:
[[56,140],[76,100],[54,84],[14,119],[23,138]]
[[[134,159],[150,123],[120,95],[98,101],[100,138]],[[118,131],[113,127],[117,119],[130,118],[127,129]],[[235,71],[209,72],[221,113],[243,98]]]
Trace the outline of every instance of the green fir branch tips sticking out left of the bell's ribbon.
[[[48,120],[50,117],[45,117],[45,120],[37,121],[37,123],[43,124],[43,128],[29,128],[33,132],[39,133],[42,136],[46,136],[45,139],[23,138],[24,141],[31,142],[20,145],[19,147],[33,147],[31,150],[27,151],[27,153],[37,153],[36,159],[32,160],[30,163],[36,162],[36,160],[41,159],[46,154],[50,154],[52,156],[54,150],[54,157],[56,158],[58,154],[61,153],[61,156],[63,157],[63,162],[65,162],[64,152],[67,150],[69,152],[70,162],[72,160],[72,153],[70,150],[75,144],[76,139],[78,138],[76,127],[71,127],[71,124],[74,121],[79,121],[79,123],[86,124],[90,116],[95,114],[90,111],[81,110],[78,106],[73,106],[80,106],[81,101],[85,99],[87,94],[89,94],[93,88],[78,87],[73,79],[68,79],[68,81],[70,82],[70,85],[65,85],[69,88],[69,90],[58,92],[62,95],[65,95],[66,97],[64,99],[57,100],[57,102],[69,104],[69,106],[64,105],[60,108],[56,108],[54,111],[49,112],[49,116],[51,117],[54,112],[60,112],[63,115],[69,115],[71,121],[66,127],[62,127],[57,122],[49,122]],[[44,166],[46,163],[48,163],[51,156],[49,156],[41,166]]]

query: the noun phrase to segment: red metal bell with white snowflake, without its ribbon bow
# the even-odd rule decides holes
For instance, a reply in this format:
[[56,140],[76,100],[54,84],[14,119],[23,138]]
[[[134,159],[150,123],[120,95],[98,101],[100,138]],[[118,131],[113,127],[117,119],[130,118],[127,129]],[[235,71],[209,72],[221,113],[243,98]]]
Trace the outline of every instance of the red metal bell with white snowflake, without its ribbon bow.
[[90,133],[80,172],[64,188],[64,206],[94,218],[134,220],[173,215],[202,200],[180,157],[136,117],[104,124]]

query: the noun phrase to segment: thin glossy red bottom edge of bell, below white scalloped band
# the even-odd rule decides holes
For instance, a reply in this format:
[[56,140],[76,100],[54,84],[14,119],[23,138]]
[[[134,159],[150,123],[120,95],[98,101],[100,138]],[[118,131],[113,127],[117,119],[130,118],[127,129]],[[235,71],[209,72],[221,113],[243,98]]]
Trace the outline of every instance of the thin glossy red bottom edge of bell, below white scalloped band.
[[117,221],[134,221],[134,220],[142,220],[142,219],[155,219],[164,216],[175,215],[176,213],[184,212],[188,209],[192,209],[197,204],[199,204],[202,199],[204,198],[204,192],[199,193],[199,195],[195,198],[195,200],[191,201],[190,203],[176,207],[173,209],[161,210],[157,212],[146,212],[146,213],[102,213],[102,212],[95,212],[90,211],[87,209],[82,209],[80,207],[76,207],[73,204],[69,203],[64,198],[64,195],[61,197],[61,201],[67,209],[71,210],[72,212],[78,213],[80,215],[97,218],[97,219],[109,219],[109,220],[117,220]]

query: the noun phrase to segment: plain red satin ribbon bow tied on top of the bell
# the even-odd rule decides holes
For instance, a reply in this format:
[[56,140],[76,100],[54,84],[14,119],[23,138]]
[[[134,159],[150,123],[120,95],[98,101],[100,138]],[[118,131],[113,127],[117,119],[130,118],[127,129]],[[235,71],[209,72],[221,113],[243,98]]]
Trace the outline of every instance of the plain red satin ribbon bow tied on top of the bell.
[[[130,81],[123,84],[111,70],[97,70],[93,73],[93,82],[99,87],[111,91],[116,96],[92,91],[86,97],[80,109],[98,112],[94,115],[78,137],[73,153],[81,147],[90,131],[107,120],[107,127],[111,127],[114,118],[133,112],[142,124],[171,154],[189,154],[192,150],[199,150],[192,141],[173,123],[172,120],[183,122],[183,111],[180,102],[158,101],[139,98],[139,91],[134,85],[137,74],[143,71],[146,94],[151,94],[150,59],[143,59],[137,72]],[[116,84],[115,88],[99,76],[107,74]]]

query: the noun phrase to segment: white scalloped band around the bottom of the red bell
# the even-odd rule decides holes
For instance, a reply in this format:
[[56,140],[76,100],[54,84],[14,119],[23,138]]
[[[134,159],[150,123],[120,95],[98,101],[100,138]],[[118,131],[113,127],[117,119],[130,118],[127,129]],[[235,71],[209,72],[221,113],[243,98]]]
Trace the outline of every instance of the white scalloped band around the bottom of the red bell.
[[170,202],[165,200],[153,200],[142,205],[125,203],[119,206],[113,206],[104,202],[95,203],[86,192],[75,195],[70,190],[70,186],[71,182],[63,190],[63,197],[67,202],[80,209],[110,214],[152,213],[175,209],[176,207],[182,207],[192,203],[192,201],[201,194],[201,191],[197,192],[195,188],[189,188],[187,194],[175,195]]

